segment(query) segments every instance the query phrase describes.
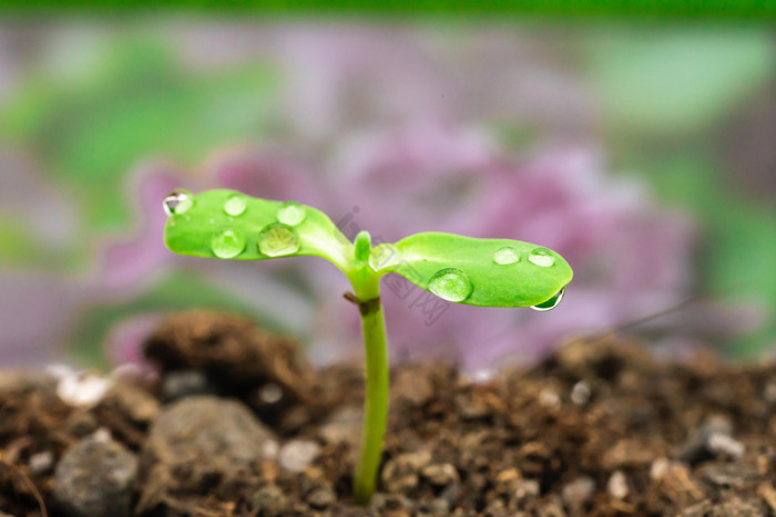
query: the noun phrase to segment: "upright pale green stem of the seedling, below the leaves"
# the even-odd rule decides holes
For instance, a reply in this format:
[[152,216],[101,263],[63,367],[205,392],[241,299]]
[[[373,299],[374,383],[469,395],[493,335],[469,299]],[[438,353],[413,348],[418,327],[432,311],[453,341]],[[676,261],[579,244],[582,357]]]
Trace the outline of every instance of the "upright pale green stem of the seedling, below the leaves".
[[[359,285],[354,283],[359,301],[378,299],[379,276],[371,275]],[[382,438],[388,423],[388,352],[382,307],[370,303],[361,311],[361,329],[366,352],[366,400],[364,402],[364,428],[361,453],[356,466],[354,495],[359,505],[367,505],[375,492],[377,471],[382,456]],[[366,313],[365,313],[366,312]]]

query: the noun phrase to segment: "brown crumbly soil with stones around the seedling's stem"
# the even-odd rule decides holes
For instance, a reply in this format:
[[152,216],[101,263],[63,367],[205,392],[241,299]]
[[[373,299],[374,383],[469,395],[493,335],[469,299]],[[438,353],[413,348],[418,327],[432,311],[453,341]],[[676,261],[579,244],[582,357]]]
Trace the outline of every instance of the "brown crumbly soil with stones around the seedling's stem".
[[153,379],[0,372],[0,516],[776,515],[774,364],[607,334],[476,382],[395,365],[361,508],[359,365],[211,312],[145,354]]

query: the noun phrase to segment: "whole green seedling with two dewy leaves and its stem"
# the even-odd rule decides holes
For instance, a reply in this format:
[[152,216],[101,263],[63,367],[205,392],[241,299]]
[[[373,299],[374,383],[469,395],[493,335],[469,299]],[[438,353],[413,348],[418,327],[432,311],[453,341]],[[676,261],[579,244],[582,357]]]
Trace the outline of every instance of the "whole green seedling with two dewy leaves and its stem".
[[366,505],[375,492],[388,416],[388,356],[380,307],[380,278],[399,273],[456,303],[549,310],[571,281],[557,252],[509,239],[474,239],[423,232],[372,247],[367,231],[351,242],[321,211],[298,203],[257,199],[234,190],[192,195],[177,189],[164,199],[164,230],[176,254],[233,260],[316,255],[348,278],[361,314],[366,350],[366,402],[354,496]]

